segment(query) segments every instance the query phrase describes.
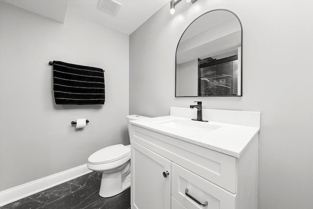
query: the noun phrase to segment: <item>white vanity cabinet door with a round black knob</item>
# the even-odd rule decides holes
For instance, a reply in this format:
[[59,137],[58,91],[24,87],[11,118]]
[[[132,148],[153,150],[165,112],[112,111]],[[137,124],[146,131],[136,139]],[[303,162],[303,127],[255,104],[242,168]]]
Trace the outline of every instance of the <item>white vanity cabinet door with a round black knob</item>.
[[170,209],[171,161],[134,141],[131,153],[132,209]]

